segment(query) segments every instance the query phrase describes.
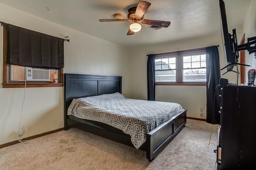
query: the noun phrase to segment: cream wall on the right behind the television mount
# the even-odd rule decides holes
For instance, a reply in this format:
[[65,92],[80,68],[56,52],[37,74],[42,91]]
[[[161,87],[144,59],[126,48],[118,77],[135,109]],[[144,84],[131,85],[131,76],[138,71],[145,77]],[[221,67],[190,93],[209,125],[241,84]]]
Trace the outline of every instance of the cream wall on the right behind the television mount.
[[[255,37],[256,36],[256,0],[252,0],[248,12],[246,14],[246,18],[243,24],[242,32],[245,33],[245,42],[247,43],[247,38]],[[246,50],[245,52],[245,61],[246,64],[251,65],[251,67],[246,67],[246,83],[247,83],[247,71],[249,69],[256,69],[256,59],[254,57],[254,53],[249,54]]]

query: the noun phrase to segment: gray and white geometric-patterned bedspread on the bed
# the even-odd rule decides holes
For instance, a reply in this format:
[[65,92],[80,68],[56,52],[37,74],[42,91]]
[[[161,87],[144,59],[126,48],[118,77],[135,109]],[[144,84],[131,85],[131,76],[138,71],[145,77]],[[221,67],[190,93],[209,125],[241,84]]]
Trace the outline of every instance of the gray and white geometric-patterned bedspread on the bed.
[[127,99],[120,93],[73,99],[68,115],[106,123],[130,134],[139,148],[146,133],[183,111],[178,103]]

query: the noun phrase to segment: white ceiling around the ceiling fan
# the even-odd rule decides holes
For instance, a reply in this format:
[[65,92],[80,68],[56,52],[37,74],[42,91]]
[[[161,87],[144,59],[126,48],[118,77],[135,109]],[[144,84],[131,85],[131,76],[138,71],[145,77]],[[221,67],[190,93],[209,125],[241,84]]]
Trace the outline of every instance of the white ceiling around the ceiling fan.
[[[103,40],[132,47],[153,43],[220,34],[219,0],[146,0],[151,6],[144,19],[170,21],[168,28],[142,29],[127,36],[132,22],[99,22],[122,14],[127,19],[128,8],[137,6],[138,0],[0,0],[0,3],[67,26]],[[239,29],[251,0],[224,0],[228,28]],[[1,12],[0,12],[1,14]],[[12,24],[12,23],[10,23]],[[69,37],[70,41],[72,37]]]

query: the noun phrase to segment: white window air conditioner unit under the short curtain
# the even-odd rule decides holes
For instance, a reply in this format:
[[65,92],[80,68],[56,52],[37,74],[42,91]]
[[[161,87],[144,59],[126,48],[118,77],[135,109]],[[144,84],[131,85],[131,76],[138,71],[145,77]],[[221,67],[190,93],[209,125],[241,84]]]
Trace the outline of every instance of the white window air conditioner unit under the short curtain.
[[50,81],[50,70],[25,67],[25,80],[26,81]]

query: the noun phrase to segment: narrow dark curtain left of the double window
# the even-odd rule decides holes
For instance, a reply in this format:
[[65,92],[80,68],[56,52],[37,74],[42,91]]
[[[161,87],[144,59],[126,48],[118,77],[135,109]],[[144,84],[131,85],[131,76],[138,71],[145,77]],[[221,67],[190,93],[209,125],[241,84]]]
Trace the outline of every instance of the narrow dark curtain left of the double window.
[[156,78],[155,78],[155,57],[156,55],[148,55],[148,100],[155,101],[155,89],[156,89]]

